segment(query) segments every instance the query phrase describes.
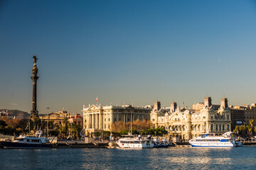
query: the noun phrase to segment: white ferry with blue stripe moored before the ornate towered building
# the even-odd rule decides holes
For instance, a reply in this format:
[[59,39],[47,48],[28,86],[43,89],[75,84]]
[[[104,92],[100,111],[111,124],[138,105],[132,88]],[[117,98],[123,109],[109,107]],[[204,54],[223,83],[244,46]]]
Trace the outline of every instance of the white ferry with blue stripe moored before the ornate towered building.
[[233,132],[225,132],[222,136],[215,136],[214,133],[202,133],[188,142],[192,147],[242,147],[242,143],[235,141],[232,134]]

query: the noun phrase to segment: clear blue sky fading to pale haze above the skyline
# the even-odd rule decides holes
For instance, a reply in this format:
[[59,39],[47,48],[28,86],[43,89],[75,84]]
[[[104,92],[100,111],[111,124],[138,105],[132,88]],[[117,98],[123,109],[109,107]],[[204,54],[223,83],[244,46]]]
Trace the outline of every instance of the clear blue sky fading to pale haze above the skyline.
[[0,108],[256,103],[256,1],[0,1]]

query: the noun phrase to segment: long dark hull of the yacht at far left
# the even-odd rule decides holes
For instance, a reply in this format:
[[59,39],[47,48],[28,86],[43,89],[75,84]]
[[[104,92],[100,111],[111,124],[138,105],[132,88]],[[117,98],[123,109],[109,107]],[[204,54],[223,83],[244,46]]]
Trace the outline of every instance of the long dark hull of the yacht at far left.
[[5,149],[50,149],[50,144],[31,144],[21,142],[0,142]]

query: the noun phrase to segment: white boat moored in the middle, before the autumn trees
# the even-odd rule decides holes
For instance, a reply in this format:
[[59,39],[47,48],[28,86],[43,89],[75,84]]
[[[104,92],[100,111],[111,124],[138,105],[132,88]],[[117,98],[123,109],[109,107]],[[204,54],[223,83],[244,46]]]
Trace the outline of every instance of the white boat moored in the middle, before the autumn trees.
[[117,141],[121,148],[151,148],[154,144],[151,140],[142,140],[142,137],[127,136]]

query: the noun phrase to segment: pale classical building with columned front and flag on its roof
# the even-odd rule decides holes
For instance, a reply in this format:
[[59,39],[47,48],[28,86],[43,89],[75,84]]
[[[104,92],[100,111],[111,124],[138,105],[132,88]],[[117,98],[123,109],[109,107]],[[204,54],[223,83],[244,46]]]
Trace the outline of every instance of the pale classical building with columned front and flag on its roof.
[[98,106],[92,105],[87,108],[83,106],[83,128],[85,134],[93,132],[110,131],[112,123],[131,120],[150,120],[151,108],[124,106]]

